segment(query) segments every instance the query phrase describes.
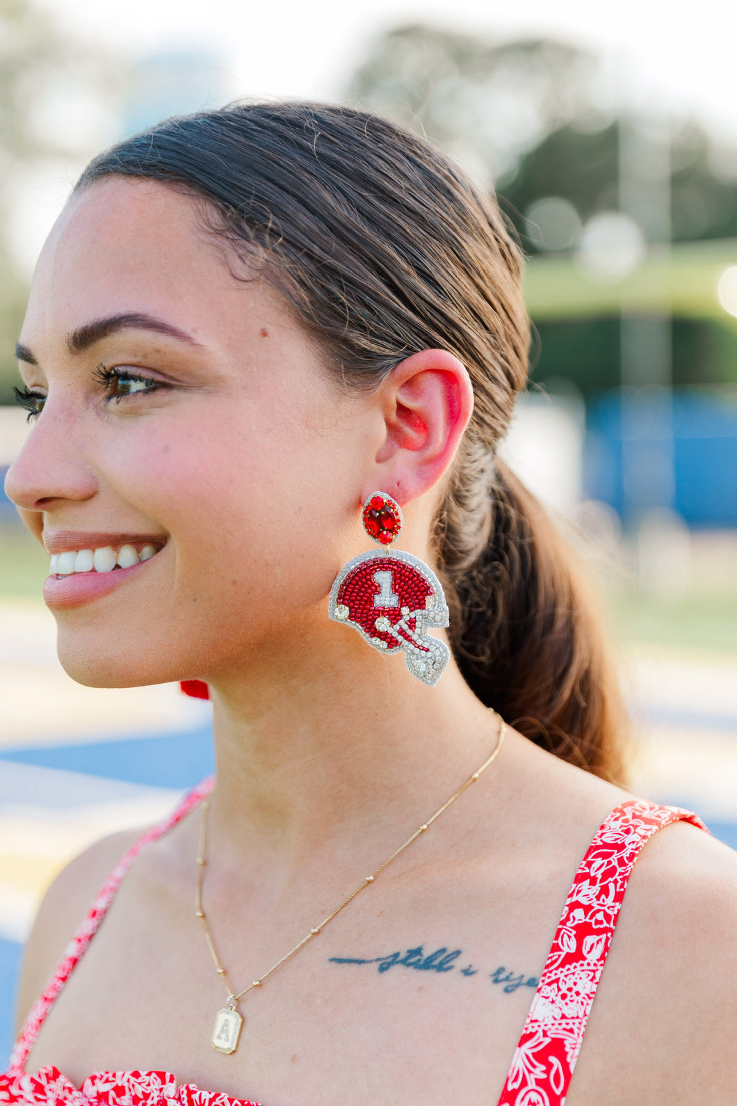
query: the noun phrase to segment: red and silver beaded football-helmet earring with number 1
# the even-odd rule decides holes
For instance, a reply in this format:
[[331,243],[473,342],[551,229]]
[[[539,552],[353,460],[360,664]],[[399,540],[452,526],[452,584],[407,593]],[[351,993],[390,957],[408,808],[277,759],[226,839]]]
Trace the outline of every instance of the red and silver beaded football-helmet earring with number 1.
[[366,500],[364,529],[385,553],[360,553],[338,573],[330,589],[328,615],[352,626],[380,653],[404,654],[412,676],[431,687],[450,651],[430,637],[430,626],[448,626],[448,604],[434,572],[411,553],[390,549],[402,529],[399,503],[377,491]]

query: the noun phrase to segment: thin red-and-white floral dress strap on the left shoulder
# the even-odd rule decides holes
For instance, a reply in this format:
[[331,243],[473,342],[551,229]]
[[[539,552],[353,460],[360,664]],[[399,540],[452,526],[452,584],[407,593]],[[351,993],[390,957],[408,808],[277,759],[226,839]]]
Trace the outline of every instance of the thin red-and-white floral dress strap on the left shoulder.
[[147,845],[150,845],[151,842],[162,837],[164,834],[176,826],[178,822],[181,822],[181,820],[189,814],[192,807],[197,806],[200,800],[212,791],[213,786],[214,779],[212,776],[208,776],[207,780],[199,783],[197,787],[185,796],[182,802],[175,810],[175,812],[169,815],[169,817],[154,826],[145,833],[143,837],[139,837],[113,868],[109,876],[97,891],[97,895],[87,910],[82,925],[76,930],[74,937],[66,947],[64,956],[56,966],[56,970],[46,984],[43,994],[40,999],[36,999],[31,1006],[29,1015],[23,1023],[20,1036],[15,1042],[12,1053],[10,1054],[10,1067],[8,1068],[9,1075],[21,1074],[23,1072],[25,1061],[28,1060],[31,1048],[35,1044],[41,1026],[49,1015],[49,1011],[64,989],[64,984],[80,962],[87,946],[90,945],[90,941],[99,929],[99,924],[105,917],[108,907],[115,898],[117,889],[123,883],[123,879],[133,862],[136,859],[141,849],[146,848]]

